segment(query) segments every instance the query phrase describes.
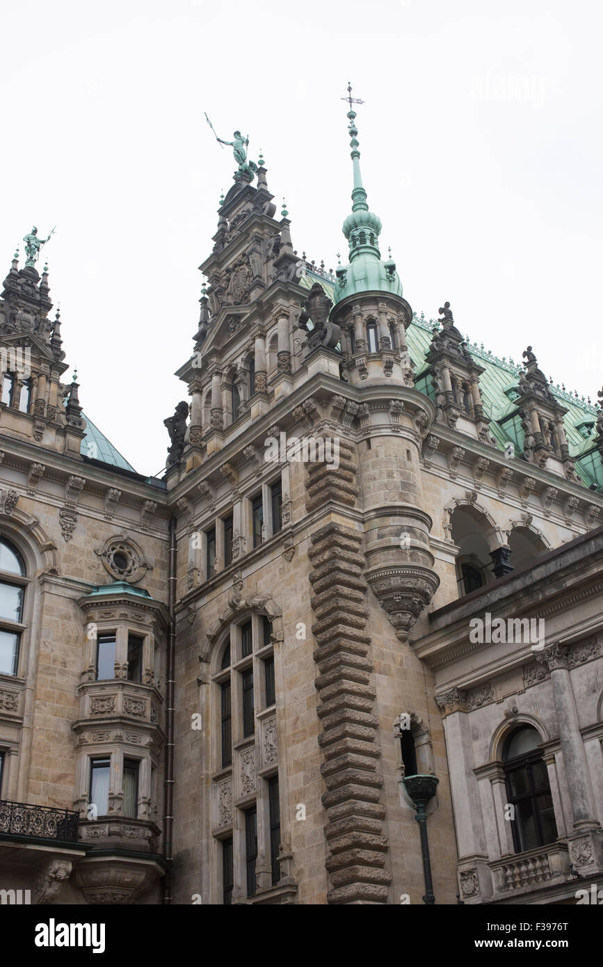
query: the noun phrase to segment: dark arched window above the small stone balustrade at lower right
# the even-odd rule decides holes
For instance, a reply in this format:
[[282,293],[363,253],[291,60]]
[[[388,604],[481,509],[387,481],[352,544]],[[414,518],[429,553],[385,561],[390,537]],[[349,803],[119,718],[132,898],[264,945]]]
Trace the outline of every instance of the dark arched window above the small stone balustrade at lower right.
[[536,729],[521,725],[508,736],[502,750],[507,802],[513,806],[511,828],[516,853],[557,839],[549,776],[539,743]]

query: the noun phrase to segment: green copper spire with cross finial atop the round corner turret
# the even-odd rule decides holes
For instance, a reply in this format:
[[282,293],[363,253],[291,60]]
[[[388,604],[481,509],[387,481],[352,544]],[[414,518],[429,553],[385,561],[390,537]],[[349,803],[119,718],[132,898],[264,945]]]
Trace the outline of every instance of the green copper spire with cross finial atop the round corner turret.
[[356,111],[353,103],[363,103],[352,97],[352,85],[348,83],[348,97],[343,98],[350,105],[348,131],[351,140],[352,165],[354,171],[354,188],[352,190],[352,214],[343,222],[343,234],[350,247],[350,264],[339,265],[335,271],[337,286],[335,289],[335,303],[347,299],[348,296],[359,292],[390,292],[402,295],[402,284],[395,271],[395,262],[388,258],[381,261],[379,250],[379,235],[381,233],[381,219],[374,212],[370,212],[366,201],[366,191],[362,185],[360,173],[360,152],[358,128],[356,127]]

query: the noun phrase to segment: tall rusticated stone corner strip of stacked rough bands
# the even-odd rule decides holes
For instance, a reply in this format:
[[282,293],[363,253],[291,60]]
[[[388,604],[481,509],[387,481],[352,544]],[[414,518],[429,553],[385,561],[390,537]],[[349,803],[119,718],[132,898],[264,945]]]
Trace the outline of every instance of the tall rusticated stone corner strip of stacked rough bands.
[[315,684],[323,728],[318,741],[327,787],[323,805],[329,814],[327,898],[333,904],[386,903],[391,877],[384,868],[388,838],[382,835],[383,777],[366,633],[362,535],[331,522],[316,531],[311,541],[308,556],[315,592],[311,605],[316,619],[312,632],[318,646]]

